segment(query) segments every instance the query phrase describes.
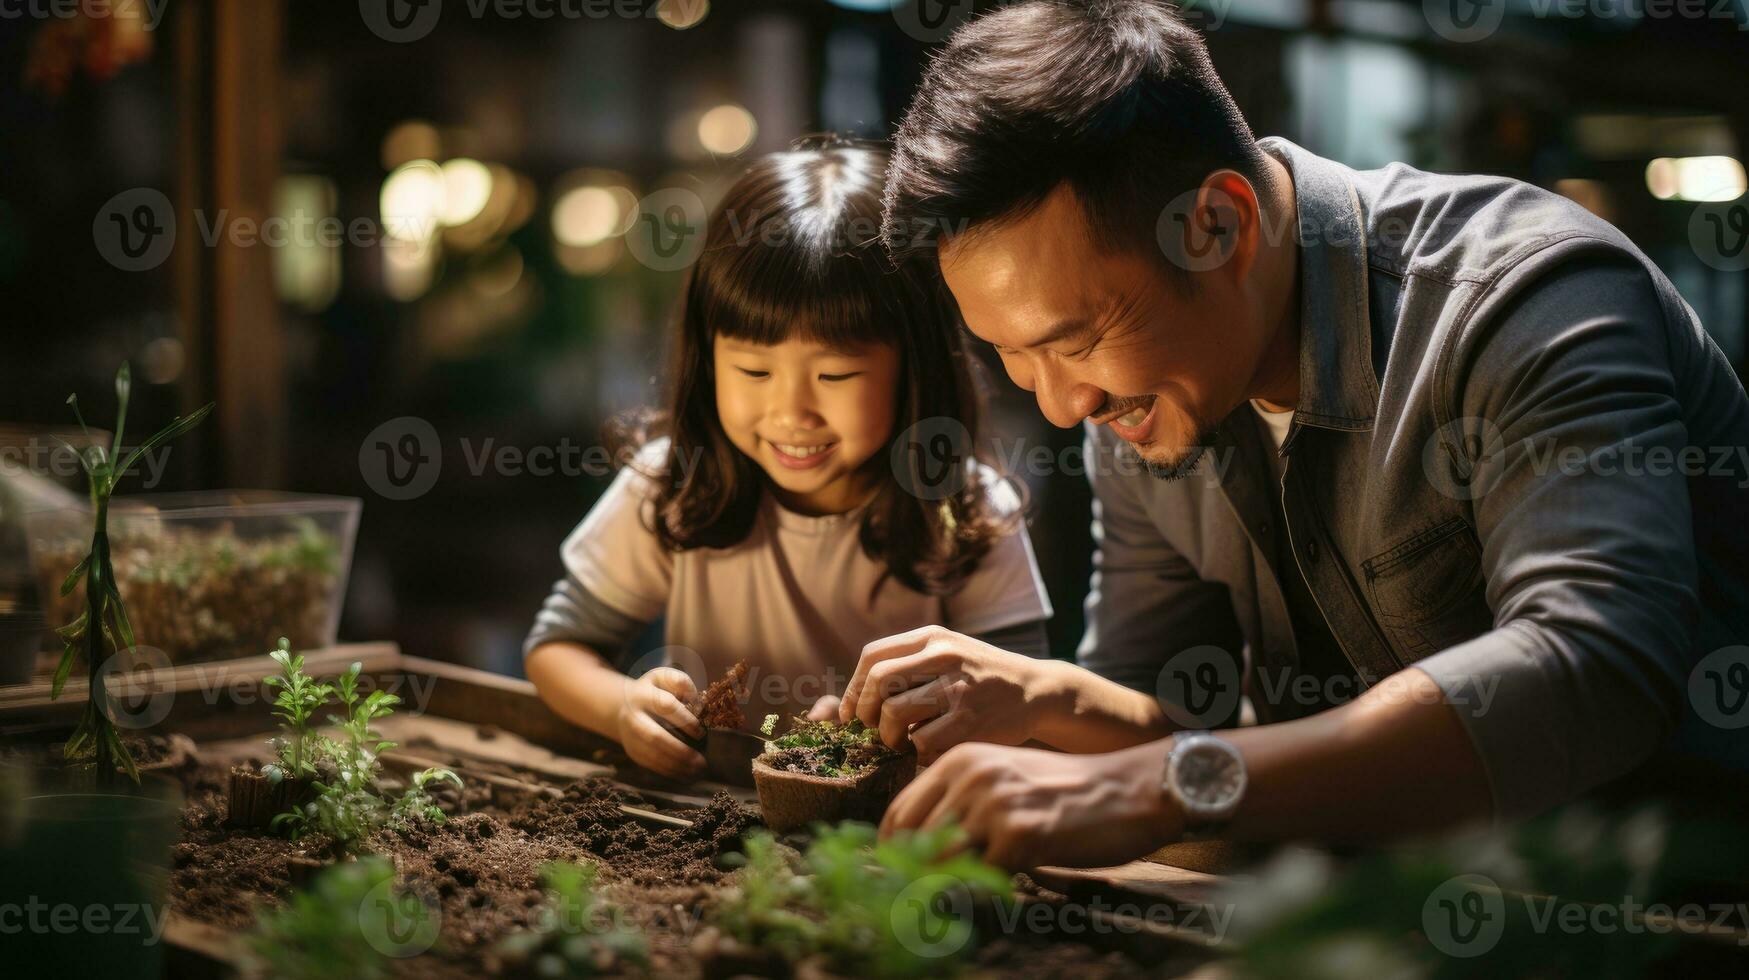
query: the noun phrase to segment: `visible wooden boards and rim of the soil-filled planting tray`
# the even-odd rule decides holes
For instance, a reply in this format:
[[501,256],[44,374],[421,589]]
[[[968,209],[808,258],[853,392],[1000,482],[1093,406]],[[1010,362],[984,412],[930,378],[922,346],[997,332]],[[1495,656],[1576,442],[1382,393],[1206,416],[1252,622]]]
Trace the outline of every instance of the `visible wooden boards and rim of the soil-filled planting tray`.
[[[353,662],[362,663],[360,677],[402,698],[397,712],[378,724],[385,737],[399,742],[383,754],[390,770],[453,765],[463,770],[465,779],[509,794],[558,794],[577,779],[609,777],[654,805],[626,807],[628,816],[652,826],[686,826],[686,810],[703,807],[717,791],[757,805],[750,788],[710,780],[677,784],[631,766],[616,744],[554,714],[528,681],[408,656],[390,642],[304,653],[304,670],[315,677],[334,677]],[[117,679],[112,693],[121,698],[175,698],[150,732],[189,735],[199,742],[206,760],[266,760],[266,740],[276,732],[269,712],[275,690],[261,681],[273,674],[278,674],[278,665],[268,656],[189,663]],[[61,737],[77,723],[84,698],[84,677],[72,677],[59,700],[49,700],[45,679],[0,688],[0,738]],[[458,766],[455,760],[460,760]],[[1034,878],[1083,901],[1098,894],[1105,901],[1170,901],[1182,906],[1212,901],[1221,882],[1217,875],[1149,861],[1091,872],[1041,868]],[[1142,926],[1144,940],[1214,945],[1196,929]],[[164,934],[171,976],[229,976],[241,962],[238,938],[226,929],[171,914]]]

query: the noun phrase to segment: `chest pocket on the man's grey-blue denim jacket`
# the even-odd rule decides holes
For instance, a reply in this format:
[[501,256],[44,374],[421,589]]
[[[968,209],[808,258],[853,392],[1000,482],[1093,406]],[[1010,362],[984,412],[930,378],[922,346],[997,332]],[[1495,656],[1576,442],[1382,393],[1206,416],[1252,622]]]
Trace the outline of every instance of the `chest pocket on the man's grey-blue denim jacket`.
[[1452,518],[1361,564],[1373,614],[1410,663],[1494,626],[1481,550]]

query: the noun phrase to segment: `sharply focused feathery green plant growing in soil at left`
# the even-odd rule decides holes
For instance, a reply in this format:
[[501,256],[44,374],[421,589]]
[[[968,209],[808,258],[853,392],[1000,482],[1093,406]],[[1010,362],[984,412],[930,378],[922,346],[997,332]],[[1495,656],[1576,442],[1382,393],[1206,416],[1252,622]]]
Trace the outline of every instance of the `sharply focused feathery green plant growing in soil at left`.
[[[364,665],[359,662],[348,665],[334,684],[318,684],[304,674],[304,658],[287,646],[282,639],[280,649],[271,654],[280,665],[280,676],[266,679],[280,688],[273,704],[285,730],[275,738],[280,763],[266,766],[266,775],[271,780],[310,779],[315,800],[273,817],[271,826],[292,840],[317,830],[355,850],[383,826],[399,830],[422,821],[441,824],[444,814],[432,800],[430,788],[437,782],[462,786],[462,777],[446,768],[413,774],[406,793],[394,802],[376,793],[381,772],[378,756],[394,749],[395,742],[383,738],[371,723],[394,714],[401,698],[381,690],[360,695],[359,674]],[[329,738],[315,732],[310,719],[336,696],[345,716],[329,716],[341,730],[339,738]]]

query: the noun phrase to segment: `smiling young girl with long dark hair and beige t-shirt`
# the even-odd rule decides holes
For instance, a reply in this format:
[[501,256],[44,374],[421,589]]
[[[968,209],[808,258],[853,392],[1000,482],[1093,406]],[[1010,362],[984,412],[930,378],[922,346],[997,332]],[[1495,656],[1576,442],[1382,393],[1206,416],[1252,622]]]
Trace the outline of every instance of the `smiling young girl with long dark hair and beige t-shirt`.
[[[703,766],[673,730],[701,735],[686,700],[742,660],[756,728],[824,716],[866,642],[916,626],[1044,654],[1051,609],[1013,490],[969,458],[964,480],[920,481],[939,460],[894,452],[918,422],[976,434],[978,415],[946,289],[880,245],[885,166],[813,145],[729,189],[687,278],[665,438],[565,541],[525,644],[558,714],[654,772]],[[617,672],[658,618],[691,676]]]

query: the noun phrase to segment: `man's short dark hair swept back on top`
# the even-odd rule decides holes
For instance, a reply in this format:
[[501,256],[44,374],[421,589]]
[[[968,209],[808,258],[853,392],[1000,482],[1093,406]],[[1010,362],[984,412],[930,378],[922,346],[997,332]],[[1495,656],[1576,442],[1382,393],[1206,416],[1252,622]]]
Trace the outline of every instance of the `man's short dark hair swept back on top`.
[[1174,198],[1268,170],[1209,49],[1161,0],[1027,0],[930,61],[894,136],[881,240],[895,256],[1023,217],[1060,184],[1102,247],[1158,254]]

